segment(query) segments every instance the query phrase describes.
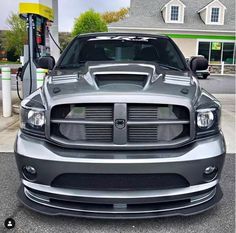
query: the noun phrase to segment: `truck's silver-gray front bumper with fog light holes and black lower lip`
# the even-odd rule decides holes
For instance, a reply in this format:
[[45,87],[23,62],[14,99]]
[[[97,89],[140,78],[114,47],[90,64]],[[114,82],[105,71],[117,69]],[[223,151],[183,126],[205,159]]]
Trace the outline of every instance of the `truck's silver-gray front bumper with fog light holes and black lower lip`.
[[[221,134],[175,150],[115,152],[63,150],[19,132],[15,155],[22,180],[20,200],[49,215],[94,218],[191,215],[211,208],[222,198],[219,179],[225,143]],[[22,175],[26,165],[36,169],[35,180],[29,181]],[[203,175],[208,166],[218,169],[210,180]],[[128,178],[134,174],[167,173],[180,175],[189,185],[151,190],[88,190],[52,185],[63,174],[105,174],[106,179],[113,174],[126,174]]]

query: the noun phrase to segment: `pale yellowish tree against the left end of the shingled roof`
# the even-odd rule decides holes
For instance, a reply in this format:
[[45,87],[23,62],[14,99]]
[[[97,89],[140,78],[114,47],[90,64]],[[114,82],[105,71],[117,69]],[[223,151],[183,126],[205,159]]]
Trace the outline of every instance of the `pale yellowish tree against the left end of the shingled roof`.
[[101,14],[101,16],[107,24],[110,24],[124,19],[128,15],[128,13],[129,8],[123,7],[118,11],[106,11],[105,13]]

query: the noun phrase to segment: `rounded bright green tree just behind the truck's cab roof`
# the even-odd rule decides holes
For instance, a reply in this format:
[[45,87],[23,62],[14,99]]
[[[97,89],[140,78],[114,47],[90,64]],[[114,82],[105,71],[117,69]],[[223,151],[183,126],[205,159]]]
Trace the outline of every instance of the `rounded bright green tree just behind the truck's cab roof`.
[[106,23],[102,20],[101,15],[94,10],[88,10],[75,19],[72,35],[76,36],[81,33],[89,32],[106,32]]

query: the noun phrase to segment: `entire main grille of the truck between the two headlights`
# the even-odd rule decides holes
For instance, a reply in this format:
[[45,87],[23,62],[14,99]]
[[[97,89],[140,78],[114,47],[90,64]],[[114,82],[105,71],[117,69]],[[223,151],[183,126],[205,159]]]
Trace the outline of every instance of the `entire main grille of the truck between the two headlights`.
[[[122,117],[120,109],[123,109]],[[122,128],[116,125],[118,120],[124,122]],[[189,110],[179,105],[58,105],[52,108],[50,125],[52,139],[71,146],[156,144],[158,147],[177,145],[190,139]]]

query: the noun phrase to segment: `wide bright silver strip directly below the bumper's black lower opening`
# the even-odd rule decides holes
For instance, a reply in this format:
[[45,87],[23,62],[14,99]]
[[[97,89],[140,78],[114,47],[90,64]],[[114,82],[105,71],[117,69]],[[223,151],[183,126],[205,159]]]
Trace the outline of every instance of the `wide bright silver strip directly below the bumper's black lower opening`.
[[36,184],[22,179],[24,186],[45,193],[71,196],[71,197],[86,197],[86,198],[160,198],[173,197],[178,195],[191,194],[213,188],[219,180],[200,185],[194,185],[186,188],[176,188],[167,190],[144,190],[144,191],[90,191],[78,189],[54,188],[48,185]]

